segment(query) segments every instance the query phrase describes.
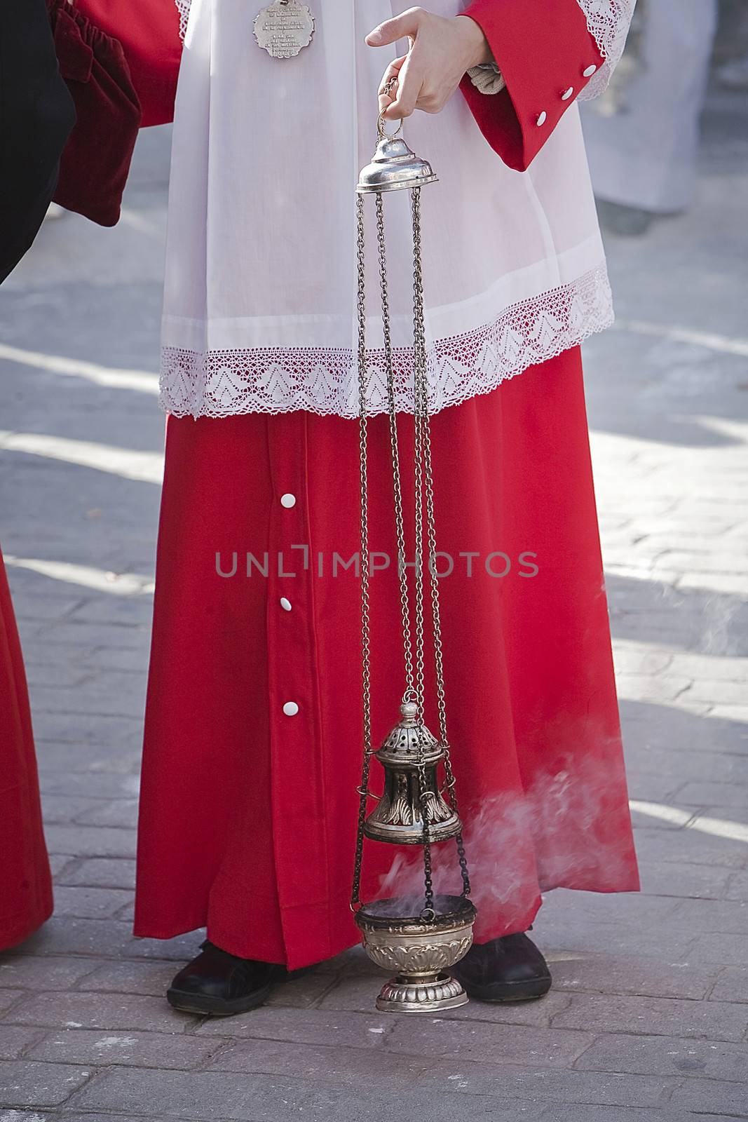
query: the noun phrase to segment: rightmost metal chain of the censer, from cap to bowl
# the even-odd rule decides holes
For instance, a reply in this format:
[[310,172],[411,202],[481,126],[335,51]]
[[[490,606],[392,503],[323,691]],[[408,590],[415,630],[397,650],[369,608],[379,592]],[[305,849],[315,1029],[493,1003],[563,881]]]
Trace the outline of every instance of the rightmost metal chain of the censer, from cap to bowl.
[[[446,788],[449,799],[455,815],[459,816],[459,807],[455,790],[454,772],[452,770],[452,757],[446,733],[446,702],[444,691],[444,657],[442,644],[441,605],[438,594],[438,577],[436,576],[436,522],[434,517],[434,477],[432,469],[432,444],[431,444],[431,419],[428,414],[428,381],[426,376],[426,332],[424,320],[424,295],[422,274],[422,245],[421,245],[421,188],[416,188],[412,196],[412,219],[413,219],[413,292],[414,292],[414,378],[415,378],[415,413],[416,425],[421,431],[421,447],[423,454],[423,475],[425,480],[426,499],[426,537],[428,546],[428,577],[432,604],[433,641],[434,641],[434,670],[436,677],[436,703],[438,709],[440,742],[444,752],[444,773],[446,776]],[[417,353],[416,353],[417,349]],[[465,857],[462,834],[455,838],[458,859],[460,863],[460,875],[462,877],[462,895],[470,895],[470,873],[468,859]]]

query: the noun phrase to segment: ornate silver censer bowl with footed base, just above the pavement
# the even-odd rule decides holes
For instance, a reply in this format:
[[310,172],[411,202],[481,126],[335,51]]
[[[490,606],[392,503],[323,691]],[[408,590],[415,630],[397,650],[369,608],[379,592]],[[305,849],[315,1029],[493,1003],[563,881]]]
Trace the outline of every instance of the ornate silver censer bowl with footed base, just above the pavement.
[[412,898],[395,898],[357,912],[367,955],[395,972],[377,997],[381,1012],[433,1013],[467,1004],[467,993],[446,972],[470,950],[475,908],[464,896],[437,895],[433,910],[433,919],[424,919]]

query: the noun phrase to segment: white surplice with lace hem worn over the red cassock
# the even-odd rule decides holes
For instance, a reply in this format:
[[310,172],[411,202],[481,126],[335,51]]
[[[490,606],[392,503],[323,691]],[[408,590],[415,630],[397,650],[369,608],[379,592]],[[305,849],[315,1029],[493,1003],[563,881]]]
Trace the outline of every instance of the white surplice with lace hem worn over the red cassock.
[[[631,0],[580,0],[608,57]],[[176,415],[358,411],[355,195],[373,153],[377,88],[395,46],[364,35],[398,0],[310,0],[312,45],[275,59],[248,0],[178,0],[185,42],[174,122],[161,404]],[[456,15],[459,0],[430,10]],[[400,45],[401,46],[401,45]],[[405,138],[438,184],[422,191],[432,411],[581,342],[612,320],[579,111],[528,171],[508,168],[458,93]],[[371,203],[371,200],[367,201]],[[370,407],[386,407],[373,213]],[[398,408],[412,392],[409,192],[386,199]]]

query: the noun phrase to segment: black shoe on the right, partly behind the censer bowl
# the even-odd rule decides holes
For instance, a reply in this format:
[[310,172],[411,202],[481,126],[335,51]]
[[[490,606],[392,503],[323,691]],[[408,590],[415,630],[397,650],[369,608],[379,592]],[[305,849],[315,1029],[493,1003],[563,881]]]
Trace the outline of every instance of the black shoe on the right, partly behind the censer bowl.
[[532,1001],[551,988],[548,964],[521,931],[473,944],[452,974],[475,1001]]

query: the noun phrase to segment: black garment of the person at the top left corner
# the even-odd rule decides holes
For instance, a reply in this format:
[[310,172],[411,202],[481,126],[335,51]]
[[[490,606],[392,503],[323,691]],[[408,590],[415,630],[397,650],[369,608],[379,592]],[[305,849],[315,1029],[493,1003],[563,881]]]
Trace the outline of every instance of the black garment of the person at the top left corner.
[[36,237],[74,123],[75,109],[57,67],[46,0],[2,0],[0,282]]

